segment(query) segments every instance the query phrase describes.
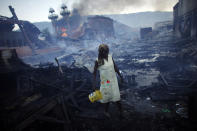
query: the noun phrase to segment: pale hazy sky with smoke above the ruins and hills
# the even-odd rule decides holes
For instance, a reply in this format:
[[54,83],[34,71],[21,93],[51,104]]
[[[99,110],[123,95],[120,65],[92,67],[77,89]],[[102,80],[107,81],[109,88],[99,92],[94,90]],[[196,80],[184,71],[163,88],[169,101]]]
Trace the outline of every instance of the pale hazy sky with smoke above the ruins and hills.
[[57,14],[62,3],[69,9],[80,8],[84,14],[123,14],[143,11],[172,11],[178,0],[0,0],[0,15],[12,16],[12,5],[19,19],[31,22],[49,21],[48,10]]

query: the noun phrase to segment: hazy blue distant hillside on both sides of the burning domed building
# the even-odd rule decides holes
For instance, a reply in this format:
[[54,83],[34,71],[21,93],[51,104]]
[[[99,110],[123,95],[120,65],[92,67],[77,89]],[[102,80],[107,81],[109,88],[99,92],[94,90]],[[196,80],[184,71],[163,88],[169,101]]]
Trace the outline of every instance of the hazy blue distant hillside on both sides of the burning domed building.
[[[150,27],[154,26],[156,22],[172,20],[172,12],[140,12],[140,13],[131,13],[131,14],[117,14],[117,15],[104,15],[110,17],[115,21],[114,28],[118,34],[124,34],[124,31],[127,33],[132,33],[136,35],[136,32],[139,31],[140,27]],[[45,28],[48,28],[50,32],[53,32],[51,22],[36,22],[33,23],[41,31]],[[127,26],[131,27],[128,28]],[[119,29],[121,27],[121,29]]]

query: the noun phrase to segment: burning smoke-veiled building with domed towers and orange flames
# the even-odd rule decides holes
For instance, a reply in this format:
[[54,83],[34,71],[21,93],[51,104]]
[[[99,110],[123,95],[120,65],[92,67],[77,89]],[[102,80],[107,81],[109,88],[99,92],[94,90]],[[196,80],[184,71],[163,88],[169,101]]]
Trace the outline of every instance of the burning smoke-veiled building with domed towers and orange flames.
[[49,9],[49,19],[59,39],[95,39],[97,37],[114,37],[113,20],[104,16],[81,16],[77,9],[70,13],[62,4],[58,19],[54,9]]

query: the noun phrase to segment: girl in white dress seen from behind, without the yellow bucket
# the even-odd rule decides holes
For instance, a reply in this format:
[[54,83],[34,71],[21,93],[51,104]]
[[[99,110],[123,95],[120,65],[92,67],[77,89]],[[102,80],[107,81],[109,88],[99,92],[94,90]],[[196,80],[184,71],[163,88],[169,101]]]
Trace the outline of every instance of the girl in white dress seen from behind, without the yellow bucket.
[[96,73],[100,73],[100,91],[102,93],[101,103],[105,104],[104,114],[110,117],[108,113],[109,103],[115,102],[119,109],[119,115],[122,117],[122,105],[120,103],[120,90],[116,73],[120,76],[121,82],[123,78],[117,68],[111,55],[109,55],[109,47],[106,44],[101,44],[98,49],[98,58],[94,66],[94,84],[95,89]]

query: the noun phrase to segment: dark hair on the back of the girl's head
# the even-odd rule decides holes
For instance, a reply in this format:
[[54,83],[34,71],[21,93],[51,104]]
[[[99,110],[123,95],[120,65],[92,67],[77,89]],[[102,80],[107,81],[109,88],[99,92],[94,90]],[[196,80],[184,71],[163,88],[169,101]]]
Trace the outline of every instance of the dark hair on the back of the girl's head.
[[109,47],[106,44],[101,44],[98,49],[98,66],[104,65],[104,59],[107,59]]

